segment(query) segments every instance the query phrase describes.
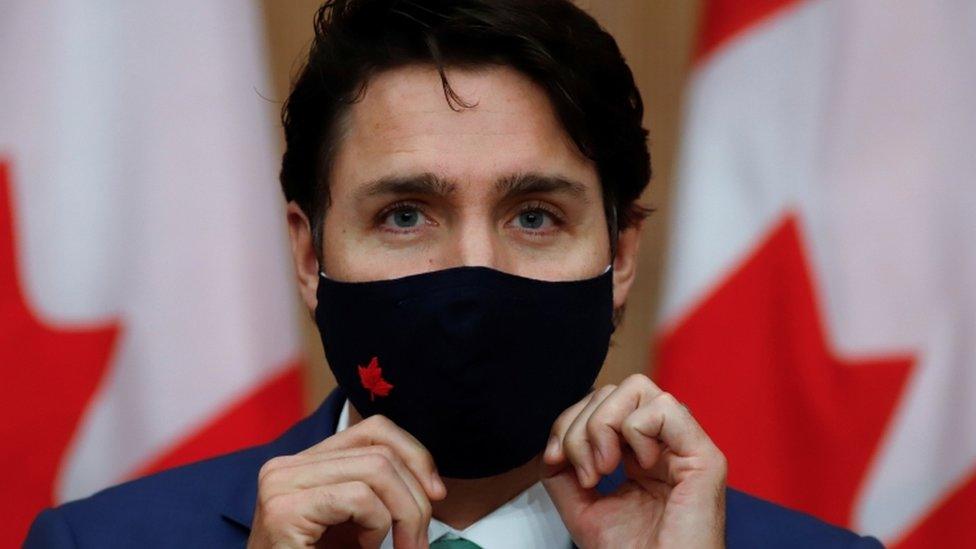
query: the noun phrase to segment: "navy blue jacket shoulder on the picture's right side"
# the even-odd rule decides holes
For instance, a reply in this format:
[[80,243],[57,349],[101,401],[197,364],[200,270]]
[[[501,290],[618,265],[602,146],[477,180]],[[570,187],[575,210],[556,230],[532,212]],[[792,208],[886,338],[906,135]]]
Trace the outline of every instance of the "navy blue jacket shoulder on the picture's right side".
[[813,516],[728,489],[726,544],[734,547],[837,547],[882,548],[881,542],[862,537]]

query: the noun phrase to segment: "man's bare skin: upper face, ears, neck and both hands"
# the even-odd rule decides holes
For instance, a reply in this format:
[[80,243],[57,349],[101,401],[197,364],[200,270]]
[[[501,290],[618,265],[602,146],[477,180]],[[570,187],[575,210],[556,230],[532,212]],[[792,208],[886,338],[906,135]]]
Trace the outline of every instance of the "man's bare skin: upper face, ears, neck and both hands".
[[[611,257],[596,167],[541,88],[507,67],[448,70],[471,109],[453,111],[436,70],[382,72],[344,121],[321,250],[328,276],[390,279],[461,265],[542,280],[597,276],[613,300],[634,281],[640,227]],[[309,221],[287,216],[299,288],[316,305]],[[726,462],[686,408],[646,376],[567,409],[544,455],[489,479],[441,479],[430,454],[386,418],[362,420],[262,468],[249,546],[359,544],[390,529],[426,547],[431,516],[464,528],[540,479],[574,542],[589,547],[722,547]],[[628,481],[602,497],[601,474]]]

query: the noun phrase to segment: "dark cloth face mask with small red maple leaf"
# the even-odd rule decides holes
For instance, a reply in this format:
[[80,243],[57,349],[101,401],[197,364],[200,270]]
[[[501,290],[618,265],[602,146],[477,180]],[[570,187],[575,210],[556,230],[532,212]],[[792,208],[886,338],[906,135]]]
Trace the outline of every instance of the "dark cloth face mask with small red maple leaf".
[[394,280],[319,276],[318,324],[352,405],[415,436],[452,478],[494,476],[545,447],[592,388],[613,332],[613,273],[547,282],[487,267]]

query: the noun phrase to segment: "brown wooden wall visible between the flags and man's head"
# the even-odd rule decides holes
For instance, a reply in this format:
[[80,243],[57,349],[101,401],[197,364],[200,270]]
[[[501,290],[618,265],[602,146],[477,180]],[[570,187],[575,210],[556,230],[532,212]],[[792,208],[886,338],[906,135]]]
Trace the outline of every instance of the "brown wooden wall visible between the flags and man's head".
[[[312,36],[317,0],[263,0],[276,99],[287,96],[290,75]],[[647,371],[653,360],[651,329],[661,291],[660,278],[668,226],[668,197],[680,124],[680,98],[695,34],[697,0],[578,0],[617,39],[641,89],[651,131],[654,178],[643,197],[657,209],[644,227],[640,266],[624,323],[600,376],[615,383]],[[334,386],[315,325],[298,313],[308,353],[308,406],[314,407]]]

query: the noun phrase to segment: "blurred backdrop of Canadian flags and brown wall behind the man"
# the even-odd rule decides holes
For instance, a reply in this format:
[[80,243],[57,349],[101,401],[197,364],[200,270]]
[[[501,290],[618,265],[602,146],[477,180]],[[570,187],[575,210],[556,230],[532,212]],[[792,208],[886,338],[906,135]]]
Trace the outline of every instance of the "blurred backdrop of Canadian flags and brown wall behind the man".
[[[655,174],[600,383],[653,375],[737,488],[976,546],[976,3],[577,4]],[[334,387],[277,183],[318,5],[0,6],[0,546]]]

